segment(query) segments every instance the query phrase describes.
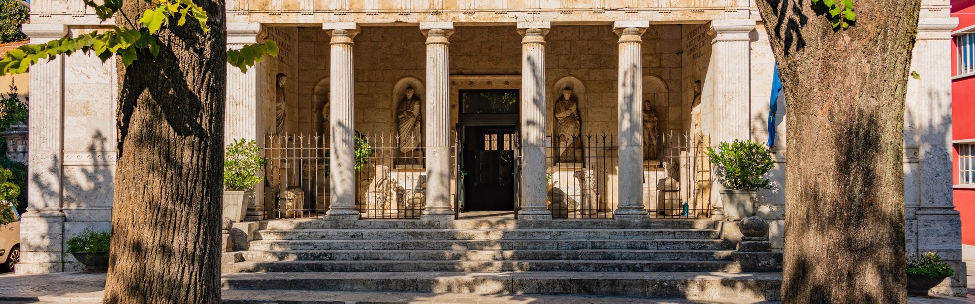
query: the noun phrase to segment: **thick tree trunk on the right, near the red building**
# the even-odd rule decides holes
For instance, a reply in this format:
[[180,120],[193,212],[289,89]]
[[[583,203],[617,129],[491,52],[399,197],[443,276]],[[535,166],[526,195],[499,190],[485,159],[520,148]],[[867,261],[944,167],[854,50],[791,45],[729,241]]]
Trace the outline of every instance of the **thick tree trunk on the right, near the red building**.
[[785,303],[906,303],[904,98],[919,0],[756,1],[786,95]]

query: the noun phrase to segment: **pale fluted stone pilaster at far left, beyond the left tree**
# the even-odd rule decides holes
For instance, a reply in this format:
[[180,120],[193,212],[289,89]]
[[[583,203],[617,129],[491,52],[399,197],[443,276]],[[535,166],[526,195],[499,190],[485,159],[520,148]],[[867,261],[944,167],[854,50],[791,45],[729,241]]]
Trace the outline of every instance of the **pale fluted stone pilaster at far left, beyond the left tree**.
[[[62,24],[23,24],[33,44],[67,33]],[[20,219],[20,264],[17,273],[63,270],[64,212],[61,209],[61,116],[64,57],[40,60],[30,67],[27,212]]]

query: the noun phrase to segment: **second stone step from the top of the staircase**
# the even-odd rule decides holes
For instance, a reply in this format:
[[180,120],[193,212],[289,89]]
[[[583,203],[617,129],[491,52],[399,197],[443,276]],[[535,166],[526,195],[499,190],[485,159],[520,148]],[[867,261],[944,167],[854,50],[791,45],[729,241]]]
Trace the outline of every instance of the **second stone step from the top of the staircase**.
[[714,229],[291,229],[260,230],[255,240],[652,240],[717,239]]

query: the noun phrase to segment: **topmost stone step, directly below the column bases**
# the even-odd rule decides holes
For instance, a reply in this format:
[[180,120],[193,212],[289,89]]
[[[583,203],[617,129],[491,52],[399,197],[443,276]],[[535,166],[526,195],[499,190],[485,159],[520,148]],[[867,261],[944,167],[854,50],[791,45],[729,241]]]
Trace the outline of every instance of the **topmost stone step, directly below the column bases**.
[[388,220],[364,219],[334,221],[322,219],[276,219],[261,224],[261,229],[715,229],[711,219],[459,219]]

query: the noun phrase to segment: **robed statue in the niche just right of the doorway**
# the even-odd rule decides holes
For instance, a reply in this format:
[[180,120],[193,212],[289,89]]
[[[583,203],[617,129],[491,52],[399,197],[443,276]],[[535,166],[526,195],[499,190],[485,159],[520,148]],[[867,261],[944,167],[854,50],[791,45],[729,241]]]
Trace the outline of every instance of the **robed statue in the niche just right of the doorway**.
[[572,95],[572,88],[565,87],[555,101],[557,162],[581,163],[582,141],[579,118],[579,98]]

